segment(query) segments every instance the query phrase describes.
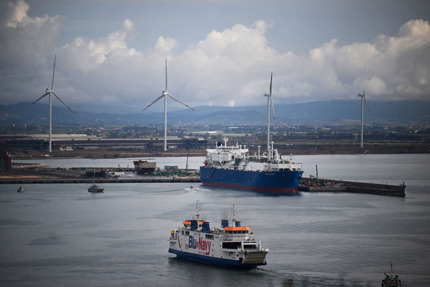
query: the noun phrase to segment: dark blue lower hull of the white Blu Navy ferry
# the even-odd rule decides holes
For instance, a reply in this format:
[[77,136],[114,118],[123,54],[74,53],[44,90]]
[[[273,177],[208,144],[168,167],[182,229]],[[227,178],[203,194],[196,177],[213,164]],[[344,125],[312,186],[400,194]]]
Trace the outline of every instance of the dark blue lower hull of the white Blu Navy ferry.
[[223,258],[217,258],[212,256],[194,254],[194,253],[175,250],[172,248],[169,248],[169,252],[176,254],[176,256],[178,256],[181,259],[187,259],[195,262],[206,263],[206,264],[221,266],[221,267],[229,267],[229,268],[237,268],[237,269],[255,269],[259,265],[267,265],[267,263],[242,264],[242,262],[239,262],[238,260],[223,259]]

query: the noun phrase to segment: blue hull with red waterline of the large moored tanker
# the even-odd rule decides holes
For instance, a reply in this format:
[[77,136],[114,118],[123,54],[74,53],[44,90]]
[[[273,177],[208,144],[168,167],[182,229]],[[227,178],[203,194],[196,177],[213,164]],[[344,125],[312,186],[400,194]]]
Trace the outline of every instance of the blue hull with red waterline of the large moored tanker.
[[200,167],[203,185],[258,192],[295,194],[303,171],[243,171]]

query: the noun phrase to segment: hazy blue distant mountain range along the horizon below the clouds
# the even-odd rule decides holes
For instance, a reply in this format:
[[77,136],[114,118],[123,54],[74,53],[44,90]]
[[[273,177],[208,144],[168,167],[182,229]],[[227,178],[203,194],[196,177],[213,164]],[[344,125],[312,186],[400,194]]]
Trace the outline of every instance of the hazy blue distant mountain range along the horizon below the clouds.
[[[391,101],[369,103],[372,117],[365,108],[364,120],[367,123],[429,123],[430,102],[424,101]],[[104,106],[107,110],[109,106]],[[91,110],[99,111],[97,105]],[[126,108],[120,108],[126,111]],[[222,124],[244,125],[264,124],[267,122],[267,106],[199,106],[190,109],[168,111],[168,124]],[[74,115],[67,108],[52,106],[52,117],[55,123],[62,124],[160,124],[164,121],[161,112],[139,111],[123,113],[94,113],[80,111],[76,107]],[[21,102],[12,105],[0,105],[0,125],[9,124],[46,124],[48,123],[48,105]],[[359,100],[332,100],[306,102],[291,105],[275,105],[278,124],[330,124],[360,120]],[[273,115],[271,115],[273,120]]]

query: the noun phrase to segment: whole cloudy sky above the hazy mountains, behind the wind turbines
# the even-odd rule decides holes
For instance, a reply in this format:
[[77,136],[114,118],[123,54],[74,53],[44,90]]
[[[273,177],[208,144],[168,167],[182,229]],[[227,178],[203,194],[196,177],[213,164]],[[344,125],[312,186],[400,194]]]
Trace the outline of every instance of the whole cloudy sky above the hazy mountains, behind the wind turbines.
[[358,99],[364,84],[369,102],[430,100],[428,0],[13,0],[0,11],[3,104],[50,88],[55,54],[54,90],[72,108],[146,107],[165,89],[165,59],[169,93],[191,106],[263,105],[271,72],[275,104]]

